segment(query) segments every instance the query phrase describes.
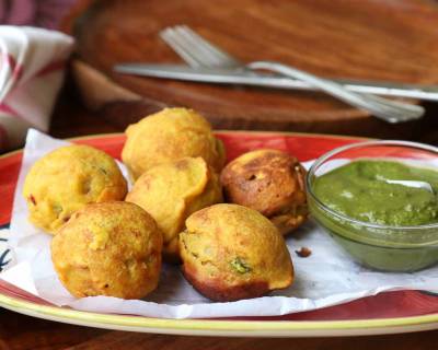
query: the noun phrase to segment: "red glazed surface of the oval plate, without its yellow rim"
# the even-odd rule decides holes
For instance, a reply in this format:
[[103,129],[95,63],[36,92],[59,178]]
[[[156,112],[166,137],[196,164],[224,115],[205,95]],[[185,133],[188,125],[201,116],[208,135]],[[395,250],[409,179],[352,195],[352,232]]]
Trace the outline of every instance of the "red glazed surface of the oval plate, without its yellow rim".
[[[323,153],[347,144],[359,141],[359,139],[319,136],[304,133],[276,133],[276,132],[249,132],[249,131],[218,131],[216,133],[227,149],[228,160],[232,160],[241,153],[260,148],[274,148],[287,151],[300,161],[308,161],[319,158]],[[85,143],[99,148],[114,158],[119,159],[120,151],[125,141],[123,135],[101,135],[85,138],[73,139],[73,142]],[[0,158],[0,225],[8,225],[11,218],[13,191],[15,188],[22,151],[4,154]],[[4,281],[0,280],[0,296],[9,301],[25,301],[34,305],[49,305],[47,302],[35,298]],[[4,302],[0,303],[8,307]],[[13,308],[13,307],[11,307]],[[15,307],[19,312],[26,313],[22,307]],[[28,312],[35,315],[35,313]],[[85,313],[87,314],[87,313]],[[233,318],[246,320],[341,320],[341,319],[378,319],[393,317],[412,317],[437,314],[438,298],[416,291],[387,292],[377,296],[369,296],[347,304],[326,307],[312,312],[303,312],[276,317],[257,318]],[[37,315],[38,316],[38,315]],[[131,317],[131,316],[130,316]],[[415,318],[414,318],[415,319]],[[58,319],[72,322],[71,319]],[[433,320],[433,319],[429,319]],[[438,320],[434,317],[434,324]],[[182,320],[180,320],[182,322]],[[72,322],[73,323],[73,322]],[[79,323],[79,322],[76,322]],[[234,322],[232,322],[234,323]],[[85,323],[82,323],[85,324]],[[102,326],[102,325],[96,325]],[[387,326],[390,326],[388,324]],[[435,327],[435,326],[434,326]],[[113,327],[114,328],[114,327]],[[232,328],[232,327],[231,327]],[[211,329],[210,329],[211,330]],[[147,330],[154,331],[154,330]],[[178,331],[170,331],[177,334]],[[183,334],[183,331],[180,331]],[[211,334],[211,331],[210,331]]]

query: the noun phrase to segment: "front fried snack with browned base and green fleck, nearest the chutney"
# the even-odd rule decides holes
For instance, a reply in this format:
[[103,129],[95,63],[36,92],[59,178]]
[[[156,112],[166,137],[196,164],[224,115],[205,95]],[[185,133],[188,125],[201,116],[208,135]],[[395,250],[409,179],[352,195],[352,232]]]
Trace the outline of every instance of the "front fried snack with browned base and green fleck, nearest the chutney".
[[246,207],[222,203],[195,212],[180,234],[180,247],[184,276],[215,301],[256,298],[293,281],[281,234]]

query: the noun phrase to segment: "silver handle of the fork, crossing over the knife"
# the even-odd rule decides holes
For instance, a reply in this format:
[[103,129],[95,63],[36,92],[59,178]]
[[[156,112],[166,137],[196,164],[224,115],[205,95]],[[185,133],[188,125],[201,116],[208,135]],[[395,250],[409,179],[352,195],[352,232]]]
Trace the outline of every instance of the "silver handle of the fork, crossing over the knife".
[[420,106],[392,102],[382,97],[347,91],[343,85],[331,80],[320,79],[308,72],[278,62],[255,61],[249,63],[246,67],[251,70],[265,69],[285,77],[304,81],[349,105],[369,110],[376,117],[388,122],[395,124],[417,119],[425,113],[425,109]]

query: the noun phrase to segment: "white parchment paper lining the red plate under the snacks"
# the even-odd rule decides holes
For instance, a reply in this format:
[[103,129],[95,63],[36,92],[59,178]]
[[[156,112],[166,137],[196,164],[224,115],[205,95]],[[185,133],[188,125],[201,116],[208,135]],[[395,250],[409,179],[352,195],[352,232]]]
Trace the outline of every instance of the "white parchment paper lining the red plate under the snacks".
[[[438,292],[438,267],[414,273],[378,272],[354,262],[319,225],[310,220],[287,238],[296,281],[287,290],[269,296],[231,303],[214,303],[197,293],[175,266],[164,266],[159,288],[145,300],[108,296],[74,299],[59,282],[50,260],[51,236],[27,221],[22,198],[25,175],[47,152],[67,144],[30,130],[15,190],[10,246],[14,264],[0,278],[54,304],[76,310],[166,318],[273,316],[310,311],[374,295],[383,291],[428,290]],[[122,168],[123,165],[120,164]],[[309,247],[311,256],[300,258],[295,250]]]

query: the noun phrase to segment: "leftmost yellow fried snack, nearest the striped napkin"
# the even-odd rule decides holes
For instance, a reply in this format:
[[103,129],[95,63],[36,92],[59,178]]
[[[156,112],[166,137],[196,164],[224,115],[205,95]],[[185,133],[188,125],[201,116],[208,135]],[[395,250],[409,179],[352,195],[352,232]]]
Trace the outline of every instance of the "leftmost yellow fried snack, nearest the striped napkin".
[[116,162],[89,145],[61,147],[30,170],[23,187],[30,221],[55,234],[87,203],[123,200],[126,180]]

